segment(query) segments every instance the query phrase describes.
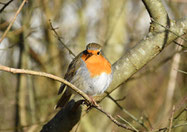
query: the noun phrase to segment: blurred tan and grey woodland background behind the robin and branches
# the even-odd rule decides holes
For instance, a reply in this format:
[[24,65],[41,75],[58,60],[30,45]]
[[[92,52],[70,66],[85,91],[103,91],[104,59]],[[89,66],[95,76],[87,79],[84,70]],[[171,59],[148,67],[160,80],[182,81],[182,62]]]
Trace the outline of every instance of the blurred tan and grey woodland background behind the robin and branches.
[[[0,9],[7,2],[1,0]],[[21,2],[13,0],[0,12],[0,36]],[[163,0],[163,4],[170,18],[187,16],[186,0]],[[143,39],[150,25],[140,0],[29,0],[0,44],[0,64],[63,77],[74,56],[59,42],[49,20],[75,55],[86,44],[96,42],[111,63]],[[177,42],[186,45],[183,40]],[[172,43],[111,94],[115,101],[107,97],[100,105],[120,122],[139,130],[167,127],[173,115],[174,126],[186,125],[172,130],[187,131],[187,75],[177,71],[187,71],[186,57],[186,50]],[[40,131],[57,112],[59,86],[47,78],[0,71],[0,131]],[[72,131],[126,130],[93,109]]]

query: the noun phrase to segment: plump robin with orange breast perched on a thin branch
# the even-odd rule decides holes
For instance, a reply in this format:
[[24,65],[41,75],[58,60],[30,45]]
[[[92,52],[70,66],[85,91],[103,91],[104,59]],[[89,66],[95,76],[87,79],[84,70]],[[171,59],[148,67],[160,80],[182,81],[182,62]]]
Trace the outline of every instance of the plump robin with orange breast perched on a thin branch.
[[[110,62],[101,51],[101,46],[89,43],[86,50],[77,55],[70,63],[64,79],[74,84],[89,97],[103,93],[112,81]],[[64,107],[73,91],[62,84],[58,95],[63,93],[56,108]],[[63,92],[64,91],[64,92]]]

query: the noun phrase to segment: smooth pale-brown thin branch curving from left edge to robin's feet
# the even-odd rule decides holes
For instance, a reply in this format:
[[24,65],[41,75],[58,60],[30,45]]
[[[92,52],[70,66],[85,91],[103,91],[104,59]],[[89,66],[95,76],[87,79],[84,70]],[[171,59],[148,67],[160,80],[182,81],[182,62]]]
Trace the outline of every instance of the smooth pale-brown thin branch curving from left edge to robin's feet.
[[77,87],[75,87],[73,84],[70,82],[66,81],[65,79],[62,79],[58,76],[45,73],[45,72],[37,72],[37,71],[32,71],[32,70],[25,70],[25,69],[16,69],[16,68],[10,68],[7,66],[0,65],[0,71],[6,71],[6,72],[11,72],[15,74],[28,74],[28,75],[37,75],[37,76],[42,76],[42,77],[47,77],[56,81],[59,81],[61,83],[66,84],[67,86],[71,87],[73,91],[81,95],[88,103],[91,103],[90,98],[88,97],[87,94],[79,90]]

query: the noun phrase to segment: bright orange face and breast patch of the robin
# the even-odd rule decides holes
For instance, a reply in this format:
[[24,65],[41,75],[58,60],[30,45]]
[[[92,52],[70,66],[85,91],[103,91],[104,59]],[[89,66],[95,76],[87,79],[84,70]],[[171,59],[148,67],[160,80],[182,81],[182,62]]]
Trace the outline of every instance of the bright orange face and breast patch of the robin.
[[92,55],[86,59],[87,55],[83,54],[81,58],[85,61],[91,77],[98,76],[103,72],[110,74],[112,71],[111,64],[102,55]]

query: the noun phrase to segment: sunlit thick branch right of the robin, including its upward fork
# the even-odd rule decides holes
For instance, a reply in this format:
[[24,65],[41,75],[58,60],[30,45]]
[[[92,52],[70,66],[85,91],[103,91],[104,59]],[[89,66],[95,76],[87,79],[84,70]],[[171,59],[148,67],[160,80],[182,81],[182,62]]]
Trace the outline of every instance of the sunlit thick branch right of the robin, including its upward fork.
[[[181,20],[178,23],[170,23],[161,1],[152,0],[152,2],[150,2],[149,0],[144,0],[143,2],[147,7],[153,7],[148,9],[150,16],[156,22],[167,28],[164,28],[157,23],[152,23],[152,28],[150,30],[151,32],[133,49],[128,51],[112,65],[114,77],[110,87],[107,90],[108,93],[114,91],[117,86],[126,81],[145,64],[157,56],[166,45],[170,44],[179,36],[185,34],[185,31],[187,30],[187,19]],[[107,94],[104,93],[98,100],[102,100],[106,97],[106,95]],[[108,117],[110,118],[110,116]],[[115,120],[112,121],[115,122]]]

